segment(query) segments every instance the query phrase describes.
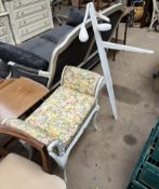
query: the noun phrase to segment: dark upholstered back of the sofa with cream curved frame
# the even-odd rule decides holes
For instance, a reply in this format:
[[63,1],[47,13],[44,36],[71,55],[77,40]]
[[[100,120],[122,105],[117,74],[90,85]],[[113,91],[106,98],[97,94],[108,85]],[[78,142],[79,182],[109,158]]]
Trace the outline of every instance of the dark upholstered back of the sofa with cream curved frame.
[[[102,32],[104,40],[111,40],[114,31],[123,14],[123,4],[119,3],[102,12],[102,14],[110,18],[112,25],[110,31]],[[89,40],[87,42],[82,43],[79,41],[79,31],[81,28],[81,25],[79,25],[70,31],[65,40],[53,51],[49,68],[51,77],[48,82],[48,86],[54,85],[57,81],[59,81],[63,68],[66,65],[87,68],[87,62],[92,57],[92,54],[95,54],[96,52],[96,44],[94,41],[94,32],[91,21],[88,21],[85,26],[89,32]]]

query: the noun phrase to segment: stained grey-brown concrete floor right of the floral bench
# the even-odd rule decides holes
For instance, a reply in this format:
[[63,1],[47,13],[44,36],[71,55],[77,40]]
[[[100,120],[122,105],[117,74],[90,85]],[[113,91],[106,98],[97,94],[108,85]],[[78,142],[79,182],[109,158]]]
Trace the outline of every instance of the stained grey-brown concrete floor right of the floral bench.
[[[120,29],[123,33],[122,26]],[[98,131],[90,124],[69,157],[68,189],[125,189],[156,123],[159,94],[154,91],[151,75],[159,64],[159,33],[130,28],[128,44],[151,49],[155,54],[118,52],[116,62],[109,57],[119,118],[112,119],[104,89],[100,96]],[[101,73],[101,65],[94,71]]]

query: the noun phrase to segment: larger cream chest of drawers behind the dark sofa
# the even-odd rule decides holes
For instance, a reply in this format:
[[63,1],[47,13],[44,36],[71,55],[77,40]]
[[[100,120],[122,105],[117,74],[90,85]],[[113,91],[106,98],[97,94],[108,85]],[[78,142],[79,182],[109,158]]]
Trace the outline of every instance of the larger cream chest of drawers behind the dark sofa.
[[17,44],[53,28],[50,0],[4,0]]

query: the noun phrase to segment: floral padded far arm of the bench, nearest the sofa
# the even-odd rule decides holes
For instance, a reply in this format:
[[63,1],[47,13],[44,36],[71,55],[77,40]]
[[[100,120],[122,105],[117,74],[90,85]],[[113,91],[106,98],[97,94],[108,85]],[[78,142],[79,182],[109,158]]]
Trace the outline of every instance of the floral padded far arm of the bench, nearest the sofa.
[[95,72],[66,66],[63,72],[62,85],[94,96],[100,78],[101,76]]

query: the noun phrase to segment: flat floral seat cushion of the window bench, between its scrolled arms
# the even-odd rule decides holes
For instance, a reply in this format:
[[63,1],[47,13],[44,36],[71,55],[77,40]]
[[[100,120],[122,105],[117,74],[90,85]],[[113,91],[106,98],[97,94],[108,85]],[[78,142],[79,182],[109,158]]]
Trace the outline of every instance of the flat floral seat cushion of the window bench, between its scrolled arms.
[[25,122],[68,145],[94,106],[94,96],[59,86]]

